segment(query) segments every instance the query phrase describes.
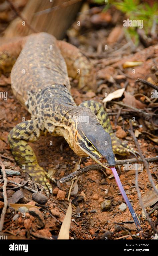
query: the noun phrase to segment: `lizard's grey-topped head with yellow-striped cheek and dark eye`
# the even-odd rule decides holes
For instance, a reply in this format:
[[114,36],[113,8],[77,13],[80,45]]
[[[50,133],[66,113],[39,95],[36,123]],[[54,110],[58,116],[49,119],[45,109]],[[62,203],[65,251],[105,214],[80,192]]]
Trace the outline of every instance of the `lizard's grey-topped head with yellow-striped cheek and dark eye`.
[[113,167],[116,165],[116,162],[112,150],[111,137],[98,122],[96,115],[91,111],[88,114],[87,119],[85,118],[85,112],[84,115],[80,115],[80,119],[78,117],[75,134],[76,144],[85,155],[90,156],[101,166]]

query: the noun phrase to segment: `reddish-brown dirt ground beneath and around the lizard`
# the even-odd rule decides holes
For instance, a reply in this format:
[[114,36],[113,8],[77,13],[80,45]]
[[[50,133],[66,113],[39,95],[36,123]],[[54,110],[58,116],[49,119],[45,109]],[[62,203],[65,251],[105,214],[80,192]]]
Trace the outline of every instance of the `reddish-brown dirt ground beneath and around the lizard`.
[[[134,49],[130,46],[130,43],[129,46],[127,45],[124,48],[128,42],[121,27],[119,27],[119,22],[122,20],[120,12],[116,10],[108,10],[106,12],[104,21],[106,21],[108,26],[102,22],[101,15],[100,10],[97,11],[91,8],[90,14],[80,17],[82,21],[80,27],[77,27],[78,18],[67,31],[67,36],[65,37],[65,40],[79,47],[91,59],[97,72],[96,91],[87,88],[78,89],[77,80],[72,81],[70,78],[72,86],[71,93],[75,102],[79,104],[88,99],[102,102],[105,98],[105,93],[109,94],[126,86],[126,92],[130,93],[130,95],[142,94],[136,97],[137,101],[135,102],[134,100],[133,107],[149,113],[156,111],[156,106],[146,100],[146,97],[151,99],[151,92],[154,89],[135,82],[138,77],[145,80],[150,78],[150,82],[155,82],[156,84],[155,74],[151,72],[151,67],[158,61],[158,46],[156,45],[156,41],[153,40],[148,48],[145,48],[141,43]],[[113,20],[114,18],[116,19],[115,24],[111,23],[112,15]],[[105,45],[108,45],[107,51],[104,50]],[[127,60],[142,61],[143,63],[134,67],[135,74],[133,74],[132,67],[127,69],[122,68],[122,64]],[[1,76],[0,79],[0,92],[8,92],[7,100],[0,99],[0,161],[4,163],[6,169],[19,171],[20,168],[15,163],[11,154],[7,135],[16,124],[22,121],[23,117],[25,117],[25,120],[29,120],[30,114],[20,105],[13,95],[9,85],[9,74],[6,77]],[[123,96],[119,100],[122,102],[122,99]],[[129,101],[131,102],[132,100],[133,98],[128,98],[127,96],[126,101],[123,102],[128,105]],[[144,104],[143,107],[142,104]],[[121,106],[107,103],[106,107],[109,113],[118,113]],[[152,135],[156,136],[157,121],[154,118],[152,120],[145,120],[138,112],[129,111],[127,107],[124,107],[124,109],[126,109],[126,112],[125,110],[124,112],[120,110],[119,116],[109,114],[114,132],[121,132],[121,128],[123,128],[126,134],[121,140],[126,141],[128,145],[133,146],[137,150],[128,132],[130,129],[129,119],[135,117],[133,129],[134,132],[135,130],[139,132],[137,139],[144,157],[156,157],[158,146],[155,143],[156,140],[155,142],[152,140],[154,138]],[[53,141],[53,146],[50,146],[50,141]],[[50,237],[56,239],[68,208],[69,202],[67,198],[71,186],[71,182],[60,184],[59,180],[73,171],[75,163],[78,163],[80,158],[75,155],[69,148],[67,142],[61,137],[47,135],[46,137],[40,137],[36,143],[31,145],[40,166],[44,167],[45,170],[51,170],[51,168],[56,169],[54,178],[57,184],[52,184],[53,195],[50,196],[44,205],[37,204],[32,199],[32,192],[21,188],[20,191],[23,196],[19,200],[16,198],[14,202],[36,204],[41,207],[40,212],[42,216],[40,216],[39,212],[34,216],[27,212],[25,217],[23,217],[22,212],[15,211],[12,207],[9,207],[5,216],[3,233],[11,239],[50,239]],[[118,160],[127,158],[133,158],[133,156],[117,156]],[[95,162],[89,157],[82,158],[80,167],[83,168],[92,164],[95,164]],[[150,162],[149,169],[155,185],[158,184],[156,162]],[[119,209],[119,206],[124,200],[114,177],[112,177],[112,172],[109,170],[104,170],[104,172],[102,170],[91,170],[86,174],[80,175],[75,183],[76,186],[72,188],[73,193],[70,198],[72,200],[73,215],[70,227],[70,239],[153,238],[155,233],[148,221],[144,218],[142,208],[139,205],[138,194],[135,188],[135,170],[125,170],[123,166],[121,167],[121,172],[118,168],[117,170],[127,196],[141,222],[143,231],[138,233],[128,208],[124,211]],[[13,180],[21,184],[26,180],[24,174],[20,176],[8,175],[7,179],[8,181]],[[2,181],[2,176],[0,176],[0,181]],[[156,227],[157,202],[154,200],[153,188],[149,182],[145,167],[143,171],[140,170],[139,172],[138,184],[141,196],[144,197],[144,203],[147,205],[147,212],[150,214],[151,221]],[[0,184],[0,211],[3,207],[2,185],[3,182]],[[12,190],[12,188],[14,186],[16,185],[8,183],[8,198],[13,197],[15,190]],[[36,189],[31,182],[28,186]],[[38,186],[38,189],[40,190],[41,186]],[[65,193],[62,191],[65,191]],[[148,196],[149,191],[151,192],[150,196]],[[64,200],[60,200],[60,196],[57,196],[58,192],[61,193]],[[110,200],[111,206],[108,210],[101,209],[101,203],[104,199]],[[151,204],[151,202],[153,203]]]

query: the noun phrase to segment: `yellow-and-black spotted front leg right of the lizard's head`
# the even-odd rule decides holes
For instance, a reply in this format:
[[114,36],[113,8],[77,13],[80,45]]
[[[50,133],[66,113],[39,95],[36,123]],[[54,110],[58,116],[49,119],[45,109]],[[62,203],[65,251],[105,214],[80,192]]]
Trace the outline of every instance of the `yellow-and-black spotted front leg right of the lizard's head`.
[[135,153],[137,152],[133,148],[130,148],[129,146],[127,146],[125,143],[122,143],[113,133],[113,130],[110,124],[110,119],[101,103],[95,100],[87,100],[82,102],[79,106],[87,107],[96,114],[100,124],[102,125],[104,130],[107,133],[109,133],[111,137],[112,149],[114,154],[124,156],[132,153],[136,156]]

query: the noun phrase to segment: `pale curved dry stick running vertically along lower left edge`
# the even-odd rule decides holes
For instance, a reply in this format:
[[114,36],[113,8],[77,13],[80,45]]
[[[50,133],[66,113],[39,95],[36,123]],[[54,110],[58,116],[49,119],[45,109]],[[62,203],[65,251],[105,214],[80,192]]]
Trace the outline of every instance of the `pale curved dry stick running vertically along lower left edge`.
[[7,174],[5,172],[5,167],[4,164],[1,164],[2,167],[2,173],[3,173],[3,199],[4,199],[4,207],[2,210],[2,214],[1,214],[1,220],[0,220],[0,231],[2,231],[3,229],[3,224],[4,224],[4,217],[6,214],[6,209],[7,209],[7,205],[8,205],[8,199],[7,199]]

